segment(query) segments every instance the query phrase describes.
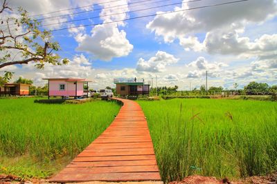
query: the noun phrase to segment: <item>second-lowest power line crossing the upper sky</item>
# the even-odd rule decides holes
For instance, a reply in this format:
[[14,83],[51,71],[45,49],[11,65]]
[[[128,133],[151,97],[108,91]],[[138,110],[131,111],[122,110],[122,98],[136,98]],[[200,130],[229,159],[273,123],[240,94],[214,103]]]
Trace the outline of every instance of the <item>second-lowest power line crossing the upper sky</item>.
[[[168,0],[166,0],[166,1],[168,1]],[[202,0],[186,1],[186,3],[196,2],[196,1],[202,1]],[[141,11],[145,11],[145,10],[151,10],[151,9],[155,9],[155,8],[162,8],[162,7],[166,7],[166,6],[174,6],[174,5],[178,5],[178,4],[181,4],[181,3],[183,3],[183,2],[170,3],[170,4],[166,4],[166,5],[162,5],[162,6],[154,6],[154,7],[150,7],[150,8],[143,8],[141,10],[133,10],[133,11],[129,11],[129,12],[120,12],[120,13],[114,13],[114,14],[105,14],[105,15],[102,15],[102,16],[89,17],[89,18],[84,18],[84,19],[75,19],[75,20],[71,20],[71,21],[63,21],[63,22],[59,22],[59,23],[48,23],[48,24],[41,25],[39,27],[48,26],[48,25],[56,25],[56,24],[61,24],[61,23],[70,23],[70,22],[75,22],[75,21],[85,21],[85,20],[89,20],[89,19],[97,19],[97,18],[100,18],[100,17],[109,17],[109,16],[117,15],[117,14],[141,12]]]

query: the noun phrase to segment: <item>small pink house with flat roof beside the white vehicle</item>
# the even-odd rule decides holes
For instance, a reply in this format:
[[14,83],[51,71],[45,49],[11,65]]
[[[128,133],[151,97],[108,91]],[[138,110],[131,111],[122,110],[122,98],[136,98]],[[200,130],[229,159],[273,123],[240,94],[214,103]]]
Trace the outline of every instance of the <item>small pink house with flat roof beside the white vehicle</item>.
[[84,84],[89,88],[86,79],[73,79],[73,78],[53,78],[44,79],[48,80],[48,99],[50,96],[78,96],[87,95],[84,93]]

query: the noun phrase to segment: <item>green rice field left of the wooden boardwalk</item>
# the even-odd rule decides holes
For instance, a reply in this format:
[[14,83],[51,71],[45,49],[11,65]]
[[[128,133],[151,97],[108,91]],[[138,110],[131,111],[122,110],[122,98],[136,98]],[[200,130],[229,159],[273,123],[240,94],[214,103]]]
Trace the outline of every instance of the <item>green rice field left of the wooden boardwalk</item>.
[[0,99],[0,173],[45,177],[66,165],[114,119],[120,105]]

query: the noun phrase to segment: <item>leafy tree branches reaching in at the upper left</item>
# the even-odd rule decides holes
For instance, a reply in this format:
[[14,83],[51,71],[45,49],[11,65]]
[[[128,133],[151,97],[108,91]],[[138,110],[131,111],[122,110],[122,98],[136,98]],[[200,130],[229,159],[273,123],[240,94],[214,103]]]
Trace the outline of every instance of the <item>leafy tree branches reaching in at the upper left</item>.
[[35,62],[37,68],[44,68],[45,63],[69,63],[68,59],[60,59],[57,54],[60,45],[52,40],[50,31],[40,30],[40,23],[28,17],[28,12],[22,8],[18,10],[19,18],[10,17],[11,12],[12,8],[4,0],[0,8],[0,54],[3,56],[0,58],[0,68],[30,62]]

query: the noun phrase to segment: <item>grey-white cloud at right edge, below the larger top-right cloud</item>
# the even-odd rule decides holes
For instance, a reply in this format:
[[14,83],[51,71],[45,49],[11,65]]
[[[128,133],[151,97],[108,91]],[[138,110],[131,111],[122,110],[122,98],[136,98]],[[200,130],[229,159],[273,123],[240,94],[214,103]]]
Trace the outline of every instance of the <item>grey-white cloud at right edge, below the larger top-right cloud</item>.
[[214,30],[206,34],[204,47],[210,54],[241,54],[244,57],[267,55],[277,50],[277,34],[264,34],[262,37],[251,41],[248,37],[240,37],[244,29]]

